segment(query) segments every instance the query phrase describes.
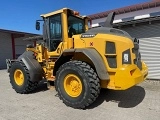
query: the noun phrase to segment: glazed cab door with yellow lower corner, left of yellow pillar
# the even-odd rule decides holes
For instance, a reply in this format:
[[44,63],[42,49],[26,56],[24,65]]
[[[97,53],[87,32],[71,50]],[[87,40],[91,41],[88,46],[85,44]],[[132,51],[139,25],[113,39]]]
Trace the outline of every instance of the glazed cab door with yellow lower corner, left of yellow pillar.
[[62,15],[57,14],[49,18],[49,40],[47,47],[49,56],[58,57],[64,49],[64,41],[62,38]]

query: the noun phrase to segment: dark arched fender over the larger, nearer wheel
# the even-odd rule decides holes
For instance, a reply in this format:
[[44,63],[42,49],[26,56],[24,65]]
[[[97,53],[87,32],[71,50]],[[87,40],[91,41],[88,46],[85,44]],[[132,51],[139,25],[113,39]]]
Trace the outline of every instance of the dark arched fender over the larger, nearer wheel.
[[69,61],[76,53],[84,54],[93,63],[98,77],[101,80],[109,80],[109,74],[107,72],[107,68],[105,67],[105,63],[101,55],[93,48],[65,50],[55,62],[53,75],[56,75],[56,71],[58,70],[58,68],[65,62]]

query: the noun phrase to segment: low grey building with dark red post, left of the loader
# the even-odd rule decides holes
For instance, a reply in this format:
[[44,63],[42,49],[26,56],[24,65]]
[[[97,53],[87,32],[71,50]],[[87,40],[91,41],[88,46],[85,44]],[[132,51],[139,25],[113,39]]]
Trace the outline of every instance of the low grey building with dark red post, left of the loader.
[[0,29],[0,69],[6,68],[6,59],[17,58],[25,51],[27,44],[35,44],[23,41],[31,36],[36,34]]

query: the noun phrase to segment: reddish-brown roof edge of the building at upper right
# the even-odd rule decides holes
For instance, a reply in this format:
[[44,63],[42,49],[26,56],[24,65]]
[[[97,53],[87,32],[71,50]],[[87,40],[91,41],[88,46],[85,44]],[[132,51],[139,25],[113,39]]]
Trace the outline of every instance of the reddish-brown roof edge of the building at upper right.
[[113,12],[113,11],[116,13],[116,15],[118,15],[118,14],[124,14],[128,12],[134,12],[138,10],[144,10],[144,9],[154,8],[154,7],[159,7],[159,6],[160,6],[160,0],[152,0],[151,2],[131,5],[131,6],[123,7],[123,8],[118,8],[114,10],[109,10],[109,11],[105,11],[101,13],[88,15],[88,17],[94,20],[94,19],[107,17],[108,13]]

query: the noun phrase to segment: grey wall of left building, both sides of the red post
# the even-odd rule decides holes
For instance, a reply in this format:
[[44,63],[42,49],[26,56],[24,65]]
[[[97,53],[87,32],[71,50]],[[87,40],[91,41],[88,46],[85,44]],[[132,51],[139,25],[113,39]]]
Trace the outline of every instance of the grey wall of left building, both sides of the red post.
[[[31,36],[33,35],[27,34],[24,37],[14,39],[16,58],[25,51],[27,44],[34,44],[34,42],[23,41],[24,38]],[[10,33],[0,32],[0,69],[7,67],[6,59],[13,59],[12,38]]]

